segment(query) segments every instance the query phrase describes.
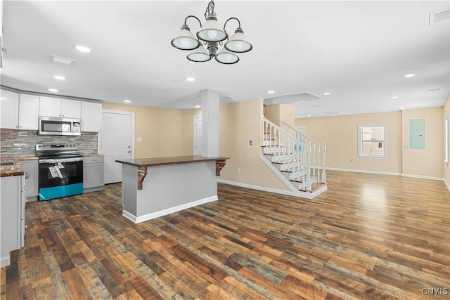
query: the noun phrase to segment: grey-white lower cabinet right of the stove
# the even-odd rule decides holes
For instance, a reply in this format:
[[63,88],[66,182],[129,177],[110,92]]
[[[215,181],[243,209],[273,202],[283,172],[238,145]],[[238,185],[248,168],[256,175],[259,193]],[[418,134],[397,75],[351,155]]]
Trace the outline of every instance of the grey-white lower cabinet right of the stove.
[[83,190],[84,193],[103,190],[105,157],[85,156],[83,157]]

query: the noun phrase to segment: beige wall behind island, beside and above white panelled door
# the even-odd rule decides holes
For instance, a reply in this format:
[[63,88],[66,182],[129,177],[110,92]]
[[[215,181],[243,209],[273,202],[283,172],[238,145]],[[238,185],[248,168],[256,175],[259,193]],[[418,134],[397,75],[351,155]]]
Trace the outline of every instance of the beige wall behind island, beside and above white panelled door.
[[117,103],[103,103],[102,108],[134,112],[134,158],[185,155],[183,110]]

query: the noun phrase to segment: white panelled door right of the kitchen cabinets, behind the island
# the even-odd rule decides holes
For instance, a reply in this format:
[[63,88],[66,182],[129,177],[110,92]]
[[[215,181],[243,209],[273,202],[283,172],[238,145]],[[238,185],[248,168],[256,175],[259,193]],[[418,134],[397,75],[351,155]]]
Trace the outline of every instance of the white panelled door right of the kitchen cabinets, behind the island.
[[116,159],[131,159],[131,115],[102,112],[101,152],[105,155],[105,183],[122,181],[122,164]]

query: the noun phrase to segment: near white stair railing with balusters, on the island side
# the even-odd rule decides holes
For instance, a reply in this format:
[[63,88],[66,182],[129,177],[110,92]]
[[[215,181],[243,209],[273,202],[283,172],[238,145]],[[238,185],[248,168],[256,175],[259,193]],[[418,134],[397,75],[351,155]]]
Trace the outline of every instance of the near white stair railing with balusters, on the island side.
[[290,181],[298,183],[300,190],[311,191],[311,144],[264,117],[261,121],[262,154],[270,156],[272,163],[279,164],[281,171],[289,172]]

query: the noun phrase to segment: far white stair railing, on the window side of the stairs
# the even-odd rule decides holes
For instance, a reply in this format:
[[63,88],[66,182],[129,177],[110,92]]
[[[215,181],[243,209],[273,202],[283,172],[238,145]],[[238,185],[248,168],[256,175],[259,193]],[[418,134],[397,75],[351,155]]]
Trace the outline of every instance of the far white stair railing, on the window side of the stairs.
[[311,174],[312,176],[317,176],[316,182],[326,183],[326,144],[321,144],[314,141],[306,134],[298,131],[293,126],[290,126],[283,121],[281,121],[281,129],[287,132],[290,136],[295,137],[295,139],[300,140],[305,145],[309,145],[311,147]]

